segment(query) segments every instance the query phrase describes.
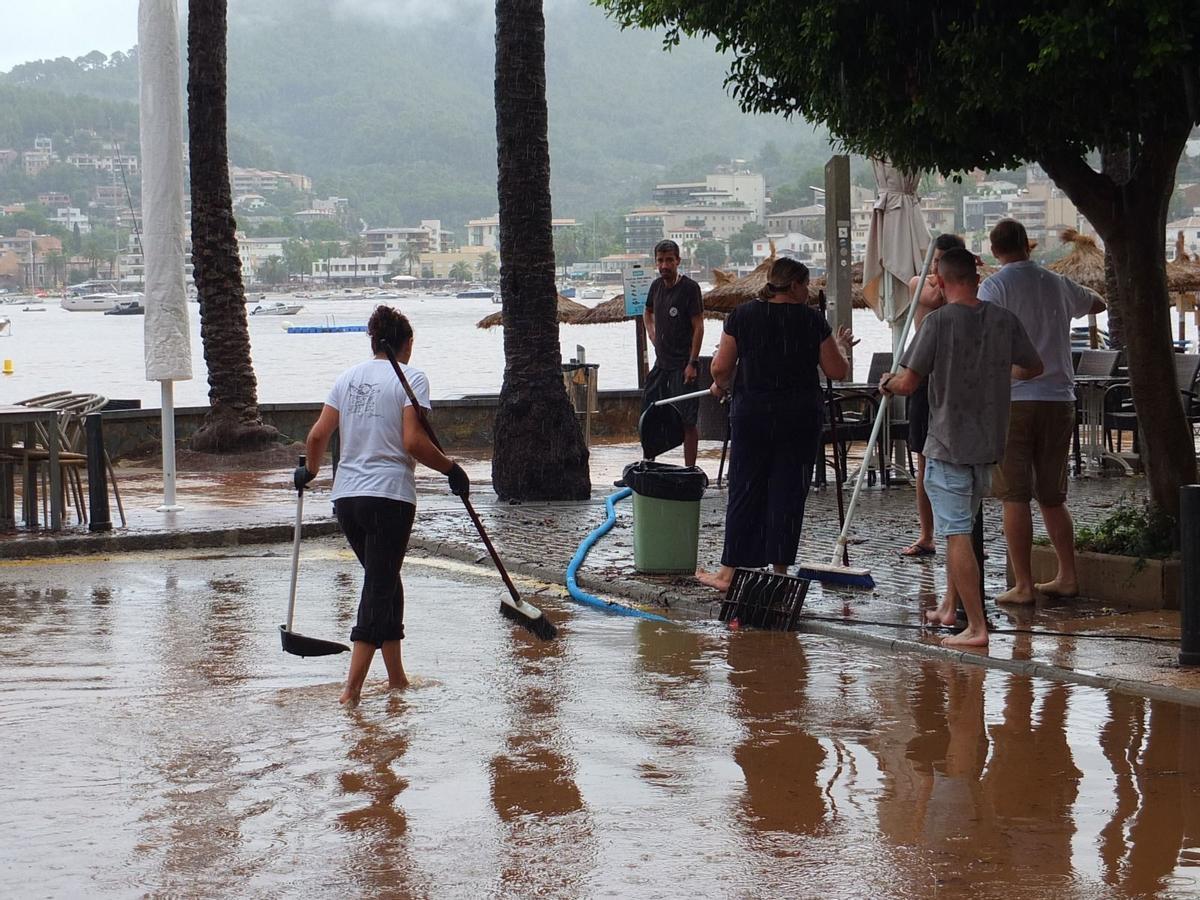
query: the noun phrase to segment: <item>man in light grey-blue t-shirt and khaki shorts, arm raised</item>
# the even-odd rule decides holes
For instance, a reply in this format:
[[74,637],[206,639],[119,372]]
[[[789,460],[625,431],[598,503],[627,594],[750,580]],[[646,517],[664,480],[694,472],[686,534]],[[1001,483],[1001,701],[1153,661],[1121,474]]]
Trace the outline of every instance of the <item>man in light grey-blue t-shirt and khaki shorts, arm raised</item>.
[[[1015,581],[996,601],[1075,596],[1075,524],[1067,509],[1067,460],[1075,430],[1070,320],[1108,307],[1096,293],[1031,260],[1028,235],[1016,220],[1002,218],[991,229],[991,252],[1001,270],[979,287],[979,299],[1014,313],[1045,365],[1038,378],[1013,382],[1004,458],[992,476],[994,496],[1004,503],[1004,539]],[[1030,568],[1033,499],[1058,557],[1057,575],[1039,584]]]

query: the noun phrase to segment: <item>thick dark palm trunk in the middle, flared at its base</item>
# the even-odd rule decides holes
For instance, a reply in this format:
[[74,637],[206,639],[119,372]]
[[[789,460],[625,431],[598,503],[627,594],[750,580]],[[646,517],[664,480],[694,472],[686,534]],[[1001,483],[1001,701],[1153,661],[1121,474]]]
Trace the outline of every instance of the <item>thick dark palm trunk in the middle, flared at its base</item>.
[[496,138],[504,384],[492,485],[505,499],[584,499],[588,449],[558,348],[541,0],[496,2]]

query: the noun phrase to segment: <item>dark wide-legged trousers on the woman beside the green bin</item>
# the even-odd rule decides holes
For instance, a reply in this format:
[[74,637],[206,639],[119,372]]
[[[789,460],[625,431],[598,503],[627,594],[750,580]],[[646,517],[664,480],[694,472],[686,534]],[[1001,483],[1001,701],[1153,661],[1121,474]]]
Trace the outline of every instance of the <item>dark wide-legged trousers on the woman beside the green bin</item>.
[[793,565],[821,442],[821,407],[730,419],[721,565]]

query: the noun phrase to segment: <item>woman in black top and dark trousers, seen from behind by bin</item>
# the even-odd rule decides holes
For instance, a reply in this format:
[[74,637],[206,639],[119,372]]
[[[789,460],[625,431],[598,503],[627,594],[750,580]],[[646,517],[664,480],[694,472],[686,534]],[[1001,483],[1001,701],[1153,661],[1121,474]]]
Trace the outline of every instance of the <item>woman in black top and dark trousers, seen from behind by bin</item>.
[[713,358],[713,392],[732,386],[730,494],[725,552],[715,572],[696,577],[727,590],[736,568],[796,563],[812,464],[821,445],[824,396],[817,366],[850,373],[850,329],[834,335],[809,302],[809,270],[779,259],[758,299],[725,320]]

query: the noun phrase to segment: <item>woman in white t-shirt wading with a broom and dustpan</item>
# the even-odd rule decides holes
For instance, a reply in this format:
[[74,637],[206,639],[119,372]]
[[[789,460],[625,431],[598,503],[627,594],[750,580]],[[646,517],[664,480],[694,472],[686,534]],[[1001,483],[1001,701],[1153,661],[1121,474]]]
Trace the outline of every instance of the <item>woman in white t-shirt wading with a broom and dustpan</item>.
[[400,312],[377,306],[367,323],[374,356],[338,377],[320,418],[308,432],[307,460],[299,467],[296,488],[302,490],[320,470],[334,432],[341,434],[341,454],[334,476],[334,511],[342,533],[362,564],[362,596],[350,630],[354,650],[346,689],[338,702],[355,706],[362,692],[376,649],[383,650],[388,685],[408,684],[401,661],[404,637],[404,588],[400,568],[416,515],[416,462],[446,475],[460,497],[470,492],[467,473],[430,440],[421,419],[383,352],[395,348],[404,377],[422,407],[430,408],[430,382],[410,368],[413,326]]

